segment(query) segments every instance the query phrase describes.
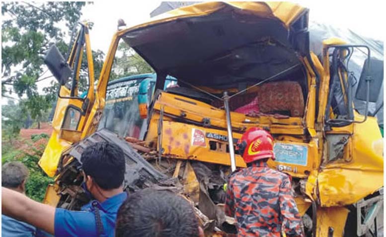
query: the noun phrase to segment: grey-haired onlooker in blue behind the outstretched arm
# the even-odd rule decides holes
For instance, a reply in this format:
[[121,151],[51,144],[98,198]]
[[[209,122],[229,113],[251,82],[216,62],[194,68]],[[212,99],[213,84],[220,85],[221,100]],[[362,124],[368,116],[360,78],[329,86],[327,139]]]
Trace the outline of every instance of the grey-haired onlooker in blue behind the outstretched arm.
[[[22,163],[5,163],[1,167],[1,186],[25,194],[25,182],[28,175],[28,169]],[[2,236],[6,237],[34,237],[36,228],[11,217],[1,215],[1,233]]]

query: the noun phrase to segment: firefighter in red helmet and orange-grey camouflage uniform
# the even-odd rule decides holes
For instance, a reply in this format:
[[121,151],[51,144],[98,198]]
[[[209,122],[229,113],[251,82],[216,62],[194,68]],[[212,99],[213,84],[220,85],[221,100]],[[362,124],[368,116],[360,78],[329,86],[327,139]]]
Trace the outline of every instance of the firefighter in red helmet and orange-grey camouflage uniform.
[[289,176],[267,166],[275,159],[272,135],[249,128],[236,149],[247,168],[229,178],[225,212],[236,220],[237,237],[304,237]]

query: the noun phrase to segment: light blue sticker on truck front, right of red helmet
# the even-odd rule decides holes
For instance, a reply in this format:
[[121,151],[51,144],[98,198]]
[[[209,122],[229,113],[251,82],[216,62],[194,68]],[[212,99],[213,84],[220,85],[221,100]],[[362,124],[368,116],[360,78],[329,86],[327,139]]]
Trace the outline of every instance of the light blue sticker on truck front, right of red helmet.
[[277,162],[307,166],[307,146],[275,142],[273,152]]

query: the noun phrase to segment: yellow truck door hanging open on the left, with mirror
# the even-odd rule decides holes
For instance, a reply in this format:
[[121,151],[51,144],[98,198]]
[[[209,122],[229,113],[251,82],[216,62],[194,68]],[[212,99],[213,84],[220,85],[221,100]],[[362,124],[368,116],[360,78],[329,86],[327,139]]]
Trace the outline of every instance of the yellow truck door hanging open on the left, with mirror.
[[[86,54],[88,88],[79,91],[79,72]],[[56,173],[63,150],[82,139],[82,132],[94,104],[94,67],[87,23],[80,23],[68,59],[65,60],[56,46],[48,51],[45,62],[60,83],[58,102],[52,121],[53,132],[39,161],[40,167],[50,177]]]

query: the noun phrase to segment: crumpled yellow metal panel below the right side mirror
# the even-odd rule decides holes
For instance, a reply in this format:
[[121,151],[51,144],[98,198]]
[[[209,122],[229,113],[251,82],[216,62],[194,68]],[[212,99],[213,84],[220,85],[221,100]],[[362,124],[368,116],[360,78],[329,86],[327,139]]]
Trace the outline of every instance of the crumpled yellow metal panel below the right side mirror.
[[[363,116],[354,113],[355,120]],[[322,206],[342,206],[356,203],[384,185],[384,160],[379,148],[382,139],[377,119],[368,117],[363,123],[354,123],[352,157],[346,162],[328,163],[318,174]],[[347,153],[347,150],[345,151]]]

